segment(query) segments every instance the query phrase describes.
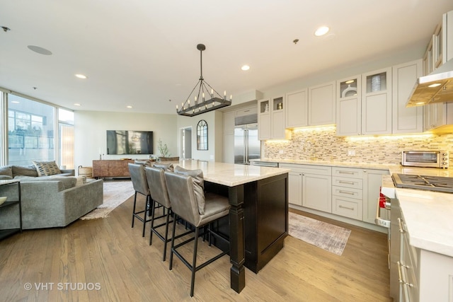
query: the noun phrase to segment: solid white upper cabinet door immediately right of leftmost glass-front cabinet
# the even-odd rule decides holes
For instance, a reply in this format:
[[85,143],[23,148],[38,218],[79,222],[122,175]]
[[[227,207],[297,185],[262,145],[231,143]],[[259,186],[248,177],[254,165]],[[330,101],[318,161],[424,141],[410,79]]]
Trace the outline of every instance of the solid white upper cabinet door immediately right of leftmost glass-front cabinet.
[[297,128],[309,125],[308,90],[287,93],[285,98],[286,127]]

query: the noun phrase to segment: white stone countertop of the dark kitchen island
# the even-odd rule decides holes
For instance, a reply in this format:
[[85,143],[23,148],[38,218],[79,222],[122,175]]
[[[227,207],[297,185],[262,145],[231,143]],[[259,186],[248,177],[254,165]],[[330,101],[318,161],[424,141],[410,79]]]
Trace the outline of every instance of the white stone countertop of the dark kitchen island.
[[173,163],[189,170],[201,169],[203,178],[208,182],[234,187],[247,182],[262,180],[288,173],[285,168],[261,167],[258,165],[238,165],[214,161],[181,160]]

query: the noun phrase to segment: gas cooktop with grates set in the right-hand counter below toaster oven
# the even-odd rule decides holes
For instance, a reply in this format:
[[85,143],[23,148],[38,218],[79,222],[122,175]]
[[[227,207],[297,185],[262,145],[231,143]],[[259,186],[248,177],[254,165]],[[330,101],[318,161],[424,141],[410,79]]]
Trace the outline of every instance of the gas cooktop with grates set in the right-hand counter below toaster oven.
[[429,175],[393,174],[395,187],[453,193],[453,178]]

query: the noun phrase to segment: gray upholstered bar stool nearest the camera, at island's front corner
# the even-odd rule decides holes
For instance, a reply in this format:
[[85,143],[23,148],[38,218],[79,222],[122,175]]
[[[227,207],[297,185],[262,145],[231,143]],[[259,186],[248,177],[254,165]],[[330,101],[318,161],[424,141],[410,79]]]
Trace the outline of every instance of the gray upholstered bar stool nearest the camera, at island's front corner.
[[[176,168],[175,168],[176,170]],[[175,245],[175,229],[176,229],[176,217],[173,219],[173,234],[171,240],[171,253],[170,253],[170,270],[173,267],[173,254],[176,255],[184,264],[192,271],[192,278],[190,281],[190,296],[193,296],[195,286],[195,272],[203,267],[209,265],[215,260],[219,259],[223,255],[226,255],[229,251],[220,252],[215,257],[197,266],[197,245],[198,237],[200,234],[200,228],[208,226],[207,234],[209,237],[209,244],[211,245],[211,236],[214,236],[218,240],[222,240],[229,243],[228,240],[214,233],[210,228],[212,222],[220,219],[229,214],[229,202],[228,198],[218,195],[207,193],[205,194],[200,188],[199,182],[194,180],[190,175],[183,175],[179,173],[165,172],[165,178],[168,188],[168,197],[170,197],[171,209],[174,214],[180,218],[188,221],[195,227],[195,236],[189,238]],[[178,248],[190,241],[194,240],[193,244],[193,260],[190,264],[188,260],[185,260],[183,255],[178,252]]]

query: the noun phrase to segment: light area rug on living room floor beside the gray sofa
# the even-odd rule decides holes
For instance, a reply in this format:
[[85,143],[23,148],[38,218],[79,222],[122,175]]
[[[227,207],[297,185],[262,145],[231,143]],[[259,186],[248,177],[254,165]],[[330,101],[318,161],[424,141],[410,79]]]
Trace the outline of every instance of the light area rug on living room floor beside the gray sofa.
[[129,197],[131,197],[135,191],[132,186],[132,181],[104,181],[104,199],[103,204],[99,205],[96,209],[89,212],[85,216],[82,216],[81,219],[98,219],[105,218],[110,214],[115,207],[119,206],[125,202]]

